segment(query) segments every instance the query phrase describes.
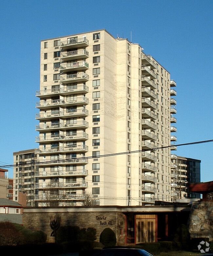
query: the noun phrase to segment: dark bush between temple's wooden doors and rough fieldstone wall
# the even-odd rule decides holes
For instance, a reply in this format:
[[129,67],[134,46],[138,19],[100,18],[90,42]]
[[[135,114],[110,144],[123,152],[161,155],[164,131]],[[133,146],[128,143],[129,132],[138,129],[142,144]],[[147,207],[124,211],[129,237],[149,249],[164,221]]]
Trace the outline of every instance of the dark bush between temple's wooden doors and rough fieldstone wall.
[[177,243],[180,250],[188,250],[190,247],[190,234],[186,225],[181,224],[175,232],[173,242]]

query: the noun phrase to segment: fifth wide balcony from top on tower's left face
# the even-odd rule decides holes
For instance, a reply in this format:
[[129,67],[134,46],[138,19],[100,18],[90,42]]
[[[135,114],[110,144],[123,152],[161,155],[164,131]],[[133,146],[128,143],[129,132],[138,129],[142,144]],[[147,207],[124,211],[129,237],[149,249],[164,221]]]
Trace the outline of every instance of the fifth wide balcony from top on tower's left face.
[[35,137],[35,142],[48,142],[48,141],[79,141],[79,140],[88,140],[87,133],[75,133],[72,136],[67,135],[54,135],[54,136],[42,136]]

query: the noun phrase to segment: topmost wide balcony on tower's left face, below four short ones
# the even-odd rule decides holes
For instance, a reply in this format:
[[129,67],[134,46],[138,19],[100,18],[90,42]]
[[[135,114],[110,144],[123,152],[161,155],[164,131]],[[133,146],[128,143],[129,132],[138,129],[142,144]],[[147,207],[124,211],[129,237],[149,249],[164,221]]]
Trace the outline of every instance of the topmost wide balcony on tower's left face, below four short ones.
[[66,88],[58,88],[58,89],[49,89],[49,90],[39,90],[36,91],[36,96],[40,98],[45,98],[47,96],[56,96],[56,95],[71,95],[71,94],[76,94],[76,93],[87,93],[88,86],[86,85],[74,85],[72,87]]

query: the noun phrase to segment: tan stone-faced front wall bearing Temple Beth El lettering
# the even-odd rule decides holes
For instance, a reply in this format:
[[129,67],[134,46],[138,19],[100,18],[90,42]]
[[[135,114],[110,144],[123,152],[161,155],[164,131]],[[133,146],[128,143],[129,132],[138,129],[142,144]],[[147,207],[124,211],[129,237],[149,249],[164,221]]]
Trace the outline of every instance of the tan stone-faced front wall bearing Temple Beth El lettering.
[[[54,209],[55,210],[55,209]],[[94,227],[97,230],[97,240],[101,232],[106,228],[111,228],[117,237],[117,245],[125,244],[125,237],[120,236],[120,228],[125,234],[125,215],[121,212],[46,212],[34,211],[24,212],[23,226],[32,231],[40,230],[47,234],[47,242],[54,242],[50,237],[50,216],[59,215],[61,217],[60,226],[79,226],[80,228]]]

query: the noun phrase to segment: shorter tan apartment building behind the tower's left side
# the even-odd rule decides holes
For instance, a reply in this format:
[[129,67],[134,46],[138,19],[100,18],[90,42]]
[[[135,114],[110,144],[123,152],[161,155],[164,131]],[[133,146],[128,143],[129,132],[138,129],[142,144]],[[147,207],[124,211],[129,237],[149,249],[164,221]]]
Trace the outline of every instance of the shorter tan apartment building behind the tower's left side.
[[27,206],[36,206],[37,194],[35,172],[37,171],[38,155],[35,149],[22,150],[13,153],[13,201],[19,202],[19,195],[27,194]]

